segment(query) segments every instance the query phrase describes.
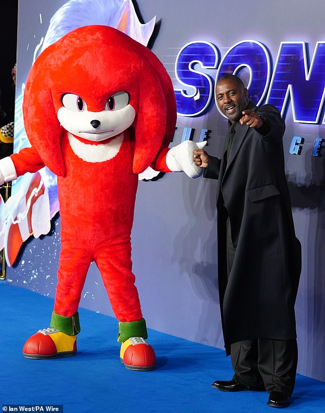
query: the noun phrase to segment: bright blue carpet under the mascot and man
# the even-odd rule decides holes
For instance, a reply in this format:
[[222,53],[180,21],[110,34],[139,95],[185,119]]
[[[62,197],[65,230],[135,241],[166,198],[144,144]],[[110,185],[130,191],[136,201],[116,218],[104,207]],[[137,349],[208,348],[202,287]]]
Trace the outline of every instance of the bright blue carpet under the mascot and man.
[[[263,412],[266,392],[234,394],[213,389],[216,379],[232,377],[230,358],[214,347],[149,330],[157,368],[138,372],[119,362],[117,322],[80,308],[82,332],[76,356],[28,360],[26,339],[49,325],[53,300],[0,282],[0,407],[63,405],[70,412]],[[325,383],[297,375],[286,409],[325,411]]]

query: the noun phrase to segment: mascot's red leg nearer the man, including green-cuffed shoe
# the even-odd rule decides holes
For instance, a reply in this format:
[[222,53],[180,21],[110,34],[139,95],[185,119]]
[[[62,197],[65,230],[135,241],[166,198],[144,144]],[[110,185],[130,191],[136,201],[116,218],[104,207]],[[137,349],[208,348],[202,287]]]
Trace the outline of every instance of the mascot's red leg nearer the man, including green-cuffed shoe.
[[119,320],[117,340],[121,343],[121,362],[131,370],[152,370],[156,356],[151,345],[146,342],[148,333],[134,285],[129,239],[102,250],[96,258],[96,264]]

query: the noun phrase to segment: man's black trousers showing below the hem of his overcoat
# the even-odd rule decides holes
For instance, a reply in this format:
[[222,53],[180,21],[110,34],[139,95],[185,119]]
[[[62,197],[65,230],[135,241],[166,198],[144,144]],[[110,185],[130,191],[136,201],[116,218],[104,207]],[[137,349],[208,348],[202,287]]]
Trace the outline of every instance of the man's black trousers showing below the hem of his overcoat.
[[234,379],[251,390],[291,396],[297,371],[297,340],[254,339],[231,344]]

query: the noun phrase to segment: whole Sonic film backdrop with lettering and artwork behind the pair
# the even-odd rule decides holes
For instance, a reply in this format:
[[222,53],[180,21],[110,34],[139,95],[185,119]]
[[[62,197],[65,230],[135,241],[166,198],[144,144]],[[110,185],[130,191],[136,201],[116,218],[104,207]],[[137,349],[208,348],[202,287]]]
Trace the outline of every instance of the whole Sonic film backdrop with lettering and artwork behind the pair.
[[[207,140],[207,151],[221,156],[228,128],[214,96],[221,74],[241,76],[255,104],[276,106],[286,121],[286,174],[302,244],[296,302],[298,372],[319,380],[325,380],[323,11],[320,0],[303,9],[294,0],[272,4],[265,0],[245,4],[238,0],[231,4],[213,0],[26,0],[19,3],[15,112],[17,151],[29,145],[22,119],[23,92],[35,58],[70,30],[88,24],[124,30],[148,45],[164,64],[174,85],[178,112],[170,146],[184,140]],[[45,121],[46,116],[45,111]],[[139,175],[132,260],[150,328],[222,348],[216,184],[204,178],[191,180],[182,172],[147,170]],[[43,169],[39,175],[19,179],[13,185],[6,219],[10,213],[14,220],[26,212],[26,193],[33,186],[36,191],[43,188],[47,195],[47,201],[40,202],[46,222],[38,234],[22,237],[20,248],[12,251],[7,229],[5,247],[12,264],[7,282],[54,297],[60,251],[56,177]],[[46,228],[49,233],[41,235]],[[94,264],[80,305],[114,316]]]

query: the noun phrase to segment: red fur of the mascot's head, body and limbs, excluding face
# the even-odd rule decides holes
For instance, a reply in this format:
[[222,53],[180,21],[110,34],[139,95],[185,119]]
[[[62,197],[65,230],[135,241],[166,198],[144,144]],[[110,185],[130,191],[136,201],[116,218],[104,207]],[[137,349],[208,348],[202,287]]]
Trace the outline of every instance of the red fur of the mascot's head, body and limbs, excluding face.
[[[60,128],[63,93],[85,97],[102,111],[108,96],[130,94],[134,128],[124,131],[117,155],[105,162],[78,158]],[[97,264],[119,321],[142,317],[132,273],[130,234],[136,173],[149,165],[169,171],[166,152],[176,122],[171,80],[157,57],[129,36],[106,26],[86,26],[49,46],[33,65],[24,95],[31,148],[12,155],[17,175],[46,165],[58,175],[62,251],[54,310],[70,317],[78,308],[91,261]]]

